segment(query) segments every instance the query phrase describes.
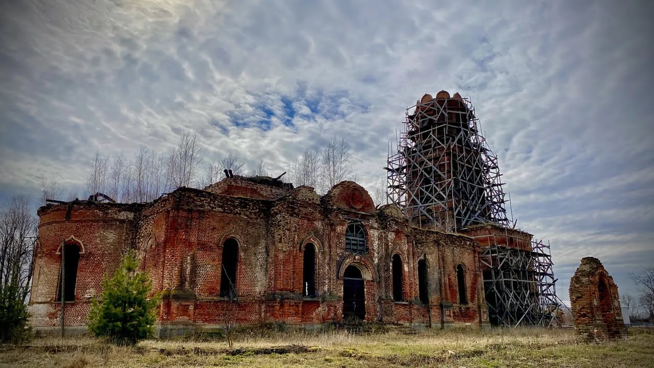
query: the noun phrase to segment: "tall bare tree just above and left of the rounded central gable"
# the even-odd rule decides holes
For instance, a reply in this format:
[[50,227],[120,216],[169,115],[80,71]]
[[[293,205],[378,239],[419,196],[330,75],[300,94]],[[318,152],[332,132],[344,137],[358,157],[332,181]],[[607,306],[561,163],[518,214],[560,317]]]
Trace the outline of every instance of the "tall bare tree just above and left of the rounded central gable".
[[322,151],[322,192],[343,180],[354,179],[354,170],[350,164],[352,149],[345,138],[334,136]]

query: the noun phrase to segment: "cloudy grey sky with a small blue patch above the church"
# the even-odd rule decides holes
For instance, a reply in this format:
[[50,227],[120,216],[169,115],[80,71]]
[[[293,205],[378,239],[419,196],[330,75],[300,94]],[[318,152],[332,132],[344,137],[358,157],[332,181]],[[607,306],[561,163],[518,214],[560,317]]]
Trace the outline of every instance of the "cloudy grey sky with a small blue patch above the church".
[[[356,3],[356,5],[355,5]],[[653,6],[615,1],[3,1],[0,200],[80,189],[95,149],[271,174],[333,134],[369,191],[404,110],[472,99],[518,226],[551,242],[557,290],[598,257],[621,293],[654,264]]]

